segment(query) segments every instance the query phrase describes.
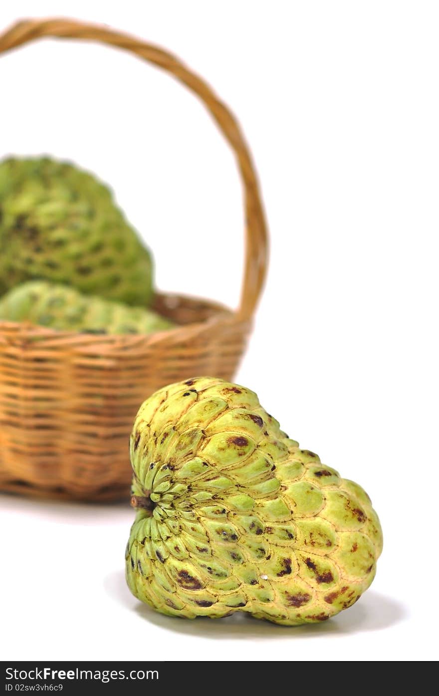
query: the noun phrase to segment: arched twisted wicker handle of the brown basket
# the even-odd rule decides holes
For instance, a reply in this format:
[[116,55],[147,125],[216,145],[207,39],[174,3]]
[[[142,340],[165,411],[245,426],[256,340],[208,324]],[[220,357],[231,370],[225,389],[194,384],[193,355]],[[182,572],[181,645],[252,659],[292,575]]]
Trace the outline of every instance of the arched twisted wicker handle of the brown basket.
[[150,43],[97,24],[72,19],[25,19],[0,35],[0,53],[45,36],[97,41],[124,49],[163,68],[192,90],[204,102],[223,136],[234,151],[244,185],[246,204],[246,260],[238,314],[250,319],[259,299],[267,261],[267,230],[255,167],[237,120],[211,88],[178,58]]

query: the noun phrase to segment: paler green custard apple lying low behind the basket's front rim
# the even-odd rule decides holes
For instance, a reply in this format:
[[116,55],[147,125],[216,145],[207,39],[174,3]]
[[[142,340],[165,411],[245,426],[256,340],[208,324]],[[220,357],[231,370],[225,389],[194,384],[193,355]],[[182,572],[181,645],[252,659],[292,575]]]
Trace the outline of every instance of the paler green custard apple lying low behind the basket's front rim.
[[82,295],[45,280],[29,280],[1,297],[2,319],[81,333],[152,333],[174,326],[152,310]]

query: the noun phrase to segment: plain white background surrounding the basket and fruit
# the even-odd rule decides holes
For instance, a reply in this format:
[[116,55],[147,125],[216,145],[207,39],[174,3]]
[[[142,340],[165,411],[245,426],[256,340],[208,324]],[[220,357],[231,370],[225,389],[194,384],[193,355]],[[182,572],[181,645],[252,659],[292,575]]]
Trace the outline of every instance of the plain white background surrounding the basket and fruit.
[[[162,617],[129,594],[128,505],[1,496],[3,659],[437,657],[439,8],[434,1],[31,1],[168,47],[237,114],[271,264],[237,381],[381,517],[376,580],[321,626]],[[202,106],[93,45],[0,57],[0,153],[50,152],[109,181],[166,290],[237,303],[241,189]]]

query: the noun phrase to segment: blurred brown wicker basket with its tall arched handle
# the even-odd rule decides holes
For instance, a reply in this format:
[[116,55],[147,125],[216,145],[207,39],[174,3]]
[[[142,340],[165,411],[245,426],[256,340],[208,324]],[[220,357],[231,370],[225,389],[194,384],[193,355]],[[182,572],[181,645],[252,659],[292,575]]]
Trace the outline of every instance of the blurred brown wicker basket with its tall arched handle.
[[158,294],[180,324],[151,336],[93,336],[0,323],[0,489],[52,498],[128,494],[128,438],[141,402],[161,386],[205,374],[232,379],[266,270],[266,226],[255,170],[227,107],[175,56],[116,31],[65,19],[29,20],[0,36],[0,52],[45,36],[95,40],[182,81],[204,102],[237,157],[246,205],[241,303]]

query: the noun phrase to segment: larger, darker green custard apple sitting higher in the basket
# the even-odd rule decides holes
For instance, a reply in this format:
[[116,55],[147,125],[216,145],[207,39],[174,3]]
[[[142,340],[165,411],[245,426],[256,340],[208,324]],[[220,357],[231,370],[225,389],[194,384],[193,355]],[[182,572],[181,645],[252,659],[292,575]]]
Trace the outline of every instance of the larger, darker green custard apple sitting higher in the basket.
[[111,192],[48,158],[0,163],[0,293],[39,278],[127,304],[152,298],[152,260]]

